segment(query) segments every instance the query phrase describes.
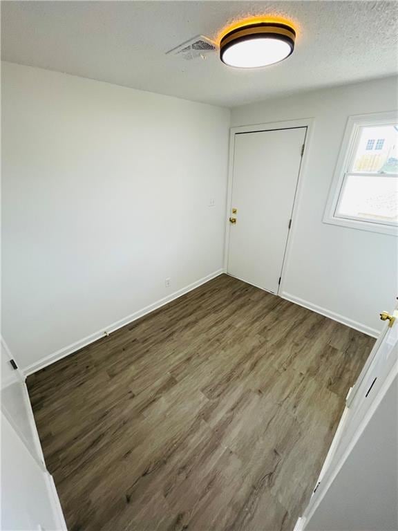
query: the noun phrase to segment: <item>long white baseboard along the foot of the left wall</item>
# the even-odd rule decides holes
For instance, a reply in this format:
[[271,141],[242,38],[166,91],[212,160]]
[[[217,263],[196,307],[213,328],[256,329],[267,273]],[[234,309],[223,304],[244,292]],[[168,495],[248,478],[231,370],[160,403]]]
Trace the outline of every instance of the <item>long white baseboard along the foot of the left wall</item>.
[[177,290],[171,293],[171,295],[167,295],[167,297],[163,297],[163,299],[159,299],[158,301],[155,301],[153,304],[149,304],[149,306],[145,306],[145,308],[142,308],[141,310],[131,313],[130,315],[127,315],[123,319],[120,319],[119,321],[116,321],[115,323],[105,326],[101,330],[98,330],[97,332],[93,334],[83,337],[83,339],[79,339],[79,341],[75,343],[65,346],[64,348],[60,348],[59,351],[56,351],[53,354],[43,357],[38,362],[32,363],[31,365],[23,369],[23,374],[26,377],[32,373],[35,373],[36,371],[39,371],[40,369],[44,369],[44,367],[52,363],[55,363],[58,360],[61,360],[61,358],[66,357],[69,354],[72,354],[78,351],[80,348],[83,348],[86,345],[89,345],[97,341],[97,339],[101,339],[102,337],[104,337],[105,330],[108,333],[115,332],[115,330],[117,330],[118,328],[122,328],[122,326],[126,326],[126,324],[130,324],[136,319],[140,319],[140,317],[143,317],[144,315],[153,312],[153,310],[157,310],[161,306],[164,306],[164,304],[167,304],[173,301],[174,299],[178,299],[178,297],[181,297],[182,295],[185,295],[189,291],[192,291],[195,288],[198,288],[202,284],[209,282],[210,280],[218,277],[223,272],[224,272],[223,269],[214,271],[213,273],[208,274],[206,277],[202,277],[202,279],[192,282],[188,286],[185,286],[184,288],[181,288],[180,290]]

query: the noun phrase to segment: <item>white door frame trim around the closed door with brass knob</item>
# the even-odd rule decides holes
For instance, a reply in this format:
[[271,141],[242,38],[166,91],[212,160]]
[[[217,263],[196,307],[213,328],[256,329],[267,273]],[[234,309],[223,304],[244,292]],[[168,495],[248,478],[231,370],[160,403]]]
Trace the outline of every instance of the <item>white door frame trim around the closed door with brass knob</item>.
[[229,236],[231,231],[231,224],[229,223],[229,216],[232,208],[232,181],[234,178],[234,155],[235,155],[235,135],[236,133],[257,133],[260,131],[274,131],[275,129],[296,129],[297,127],[307,127],[307,134],[305,136],[305,149],[303,157],[301,158],[301,165],[299,176],[297,180],[296,194],[294,196],[293,210],[292,210],[292,227],[287,234],[287,243],[285,249],[285,258],[283,259],[282,271],[281,271],[281,284],[278,286],[276,295],[283,292],[284,272],[287,268],[287,263],[290,259],[290,248],[292,245],[292,239],[296,232],[296,212],[301,203],[301,196],[303,194],[303,182],[305,175],[307,174],[308,153],[310,152],[310,140],[312,137],[314,118],[303,118],[301,120],[285,120],[283,122],[268,122],[265,124],[254,125],[241,125],[238,127],[231,127],[229,133],[229,161],[228,161],[228,180],[227,180],[227,212],[225,216],[225,245],[224,245],[224,270],[228,270],[228,257],[229,257]]

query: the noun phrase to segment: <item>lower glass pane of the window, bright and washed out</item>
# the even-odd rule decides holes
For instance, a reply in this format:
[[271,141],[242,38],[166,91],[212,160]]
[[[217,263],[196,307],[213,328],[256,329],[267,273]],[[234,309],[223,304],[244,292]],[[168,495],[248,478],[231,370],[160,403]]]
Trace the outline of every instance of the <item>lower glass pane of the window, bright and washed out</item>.
[[336,215],[374,223],[397,223],[398,177],[345,176]]

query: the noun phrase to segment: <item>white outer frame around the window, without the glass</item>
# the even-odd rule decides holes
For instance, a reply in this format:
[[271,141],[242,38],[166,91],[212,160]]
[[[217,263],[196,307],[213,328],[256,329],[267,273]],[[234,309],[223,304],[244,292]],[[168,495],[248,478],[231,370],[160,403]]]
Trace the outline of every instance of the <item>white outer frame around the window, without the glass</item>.
[[337,165],[334,171],[332,185],[328,195],[328,201],[326,203],[323,223],[398,236],[397,225],[388,225],[387,223],[377,223],[375,221],[365,221],[363,219],[335,216],[337,205],[339,204],[339,198],[343,192],[345,175],[348,173],[348,165],[352,160],[354,149],[357,147],[359,128],[366,125],[372,126],[390,124],[391,122],[398,123],[398,111],[361,114],[350,116],[348,118],[347,126],[345,127],[345,133],[343,136],[343,142],[341,143],[339,158],[337,159]]

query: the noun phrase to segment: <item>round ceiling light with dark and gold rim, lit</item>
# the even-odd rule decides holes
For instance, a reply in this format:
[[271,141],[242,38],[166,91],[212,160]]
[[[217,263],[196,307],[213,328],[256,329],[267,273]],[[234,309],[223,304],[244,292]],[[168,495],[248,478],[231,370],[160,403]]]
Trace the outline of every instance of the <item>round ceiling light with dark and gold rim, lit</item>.
[[220,41],[220,59],[236,68],[258,68],[292,55],[296,32],[279,22],[258,22],[227,32]]

